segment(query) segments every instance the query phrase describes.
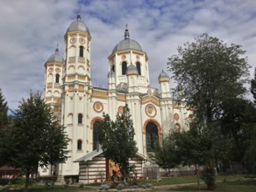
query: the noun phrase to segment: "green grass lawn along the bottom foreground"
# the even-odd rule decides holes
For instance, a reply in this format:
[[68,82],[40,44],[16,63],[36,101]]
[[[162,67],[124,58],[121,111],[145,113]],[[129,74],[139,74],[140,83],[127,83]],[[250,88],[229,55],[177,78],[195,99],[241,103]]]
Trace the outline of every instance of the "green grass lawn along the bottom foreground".
[[[245,178],[245,175],[217,175],[217,190],[216,191],[232,191],[232,192],[254,192],[256,191],[256,175],[251,175],[252,178]],[[253,178],[254,177],[254,178]],[[203,181],[200,181],[200,190],[197,189],[196,175],[186,176],[174,176],[170,178],[163,178],[159,182],[157,181],[139,181],[139,185],[145,183],[152,183],[156,187],[155,191],[207,191],[206,185]],[[29,187],[29,191],[33,192],[50,192],[50,191],[64,191],[64,192],[82,192],[82,191],[96,191],[100,183],[94,183],[92,185],[84,185],[83,188],[76,186],[64,186],[55,185],[53,187],[46,188],[43,185],[33,185]],[[6,191],[0,189],[0,191]],[[22,189],[16,189],[11,191],[21,192]]]

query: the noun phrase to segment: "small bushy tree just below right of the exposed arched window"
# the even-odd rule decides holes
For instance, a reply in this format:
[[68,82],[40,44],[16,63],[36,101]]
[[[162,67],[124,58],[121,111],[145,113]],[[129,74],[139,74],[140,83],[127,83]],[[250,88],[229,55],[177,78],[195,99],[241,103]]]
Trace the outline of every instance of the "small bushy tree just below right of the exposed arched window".
[[168,170],[175,168],[181,163],[181,153],[176,146],[175,134],[167,134],[163,137],[160,143],[157,143],[151,160],[158,164],[160,168]]

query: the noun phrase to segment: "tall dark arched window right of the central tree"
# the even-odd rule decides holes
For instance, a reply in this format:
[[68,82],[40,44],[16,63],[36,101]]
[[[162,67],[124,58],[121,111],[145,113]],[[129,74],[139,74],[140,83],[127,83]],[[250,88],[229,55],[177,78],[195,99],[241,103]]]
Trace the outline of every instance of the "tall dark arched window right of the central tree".
[[149,122],[146,125],[146,151],[153,152],[158,141],[158,128],[153,122]]

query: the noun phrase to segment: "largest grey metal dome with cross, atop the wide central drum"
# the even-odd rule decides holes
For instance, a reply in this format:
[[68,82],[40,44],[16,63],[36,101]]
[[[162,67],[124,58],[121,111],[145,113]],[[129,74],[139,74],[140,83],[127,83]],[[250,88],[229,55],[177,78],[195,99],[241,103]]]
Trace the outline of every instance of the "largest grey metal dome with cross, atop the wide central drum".
[[142,51],[141,46],[135,40],[130,39],[129,31],[126,28],[124,32],[124,40],[120,41],[113,49],[112,53],[116,51],[126,50],[126,49],[133,49]]

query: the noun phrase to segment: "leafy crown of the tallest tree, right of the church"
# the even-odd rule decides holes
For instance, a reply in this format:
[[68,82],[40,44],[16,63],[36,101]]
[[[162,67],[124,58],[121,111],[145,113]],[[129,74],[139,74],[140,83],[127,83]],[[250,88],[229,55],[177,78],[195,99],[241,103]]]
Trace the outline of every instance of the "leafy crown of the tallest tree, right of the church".
[[225,99],[245,93],[249,65],[244,54],[241,45],[226,45],[204,33],[168,58],[168,69],[198,118],[211,122],[218,118]]

